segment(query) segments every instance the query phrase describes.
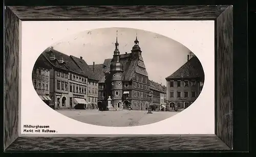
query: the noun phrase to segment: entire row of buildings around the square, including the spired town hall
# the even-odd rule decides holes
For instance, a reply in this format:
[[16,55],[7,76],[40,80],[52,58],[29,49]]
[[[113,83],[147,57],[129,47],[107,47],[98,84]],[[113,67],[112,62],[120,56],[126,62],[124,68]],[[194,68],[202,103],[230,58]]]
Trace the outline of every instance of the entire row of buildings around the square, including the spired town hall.
[[117,110],[147,110],[151,104],[165,111],[188,107],[201,92],[204,75],[195,56],[166,77],[165,87],[148,78],[137,36],[131,53],[120,54],[118,46],[116,38],[113,58],[93,65],[47,48],[32,72],[39,97],[54,109],[105,108],[111,98]]

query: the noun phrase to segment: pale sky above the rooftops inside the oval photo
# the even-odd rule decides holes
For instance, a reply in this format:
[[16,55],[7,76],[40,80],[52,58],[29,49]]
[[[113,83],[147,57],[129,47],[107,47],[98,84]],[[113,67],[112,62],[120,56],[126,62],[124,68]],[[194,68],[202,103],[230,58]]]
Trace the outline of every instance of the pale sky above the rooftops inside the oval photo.
[[130,28],[104,28],[74,34],[51,46],[63,54],[82,57],[89,65],[102,64],[113,58],[116,36],[120,54],[125,54],[131,53],[136,34],[148,79],[166,86],[165,78],[187,61],[190,50],[163,35]]

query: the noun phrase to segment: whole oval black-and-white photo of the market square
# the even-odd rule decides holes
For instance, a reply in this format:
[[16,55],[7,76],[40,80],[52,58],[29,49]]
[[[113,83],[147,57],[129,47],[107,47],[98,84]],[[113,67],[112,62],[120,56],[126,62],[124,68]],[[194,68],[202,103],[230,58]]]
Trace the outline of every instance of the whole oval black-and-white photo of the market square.
[[34,88],[53,110],[84,123],[138,126],[188,108],[204,71],[181,43],[153,32],[103,28],[46,48],[32,72]]

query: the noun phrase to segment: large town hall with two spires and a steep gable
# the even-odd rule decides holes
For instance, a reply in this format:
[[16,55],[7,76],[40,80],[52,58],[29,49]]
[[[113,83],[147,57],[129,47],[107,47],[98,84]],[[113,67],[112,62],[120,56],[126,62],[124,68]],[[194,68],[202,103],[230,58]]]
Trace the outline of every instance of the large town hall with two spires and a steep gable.
[[106,107],[110,96],[116,109],[146,110],[150,82],[137,36],[131,53],[120,54],[118,46],[116,39],[113,58],[90,66],[99,80],[98,106]]

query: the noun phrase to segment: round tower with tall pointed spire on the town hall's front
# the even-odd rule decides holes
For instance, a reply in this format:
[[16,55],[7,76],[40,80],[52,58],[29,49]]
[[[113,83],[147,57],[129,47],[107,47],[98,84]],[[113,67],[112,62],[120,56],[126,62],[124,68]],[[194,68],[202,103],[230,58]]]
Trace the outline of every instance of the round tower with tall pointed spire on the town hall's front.
[[123,65],[120,62],[120,52],[118,50],[118,42],[116,37],[116,49],[114,50],[113,59],[110,65],[111,73],[111,98],[114,108],[122,108],[122,80]]

